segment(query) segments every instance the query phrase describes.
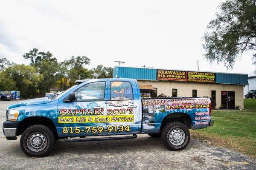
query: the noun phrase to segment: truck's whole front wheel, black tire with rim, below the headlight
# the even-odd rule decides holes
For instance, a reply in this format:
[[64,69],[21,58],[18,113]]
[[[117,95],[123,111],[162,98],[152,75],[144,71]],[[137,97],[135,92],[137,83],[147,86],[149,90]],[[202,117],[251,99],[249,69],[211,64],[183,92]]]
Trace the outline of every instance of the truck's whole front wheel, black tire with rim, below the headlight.
[[52,151],[54,142],[55,137],[49,127],[44,125],[33,125],[28,127],[22,133],[20,147],[28,156],[44,157]]

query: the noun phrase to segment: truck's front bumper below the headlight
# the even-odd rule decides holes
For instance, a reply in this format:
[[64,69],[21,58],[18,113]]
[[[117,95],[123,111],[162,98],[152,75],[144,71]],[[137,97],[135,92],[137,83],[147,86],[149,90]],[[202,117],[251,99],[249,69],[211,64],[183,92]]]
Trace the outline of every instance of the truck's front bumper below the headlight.
[[19,122],[14,122],[14,121],[5,121],[3,122],[3,134],[6,136],[6,139],[9,140],[14,140],[17,139],[16,137],[16,131],[18,127]]

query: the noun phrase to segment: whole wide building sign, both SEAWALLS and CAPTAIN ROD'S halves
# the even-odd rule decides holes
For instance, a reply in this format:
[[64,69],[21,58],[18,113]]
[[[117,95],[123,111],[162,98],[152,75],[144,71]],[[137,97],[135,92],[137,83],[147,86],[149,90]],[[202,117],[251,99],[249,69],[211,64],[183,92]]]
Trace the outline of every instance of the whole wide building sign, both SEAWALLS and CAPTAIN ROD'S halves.
[[215,73],[157,70],[157,80],[215,83]]

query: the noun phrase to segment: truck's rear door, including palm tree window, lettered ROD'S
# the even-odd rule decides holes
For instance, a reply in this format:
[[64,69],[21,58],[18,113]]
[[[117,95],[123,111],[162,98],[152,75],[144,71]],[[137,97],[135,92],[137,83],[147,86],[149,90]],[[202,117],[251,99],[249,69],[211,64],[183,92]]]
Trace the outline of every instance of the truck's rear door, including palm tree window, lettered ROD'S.
[[110,81],[110,99],[106,102],[108,135],[132,134],[139,131],[139,94],[135,82],[133,85],[131,83],[133,82]]

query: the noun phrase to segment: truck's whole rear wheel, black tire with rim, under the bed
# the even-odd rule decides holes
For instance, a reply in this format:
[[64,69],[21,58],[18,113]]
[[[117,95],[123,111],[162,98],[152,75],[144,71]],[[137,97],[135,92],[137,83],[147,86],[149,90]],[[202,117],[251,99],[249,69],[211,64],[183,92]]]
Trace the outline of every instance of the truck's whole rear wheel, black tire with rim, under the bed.
[[171,122],[163,127],[161,139],[169,150],[183,150],[190,140],[188,127],[180,122]]

